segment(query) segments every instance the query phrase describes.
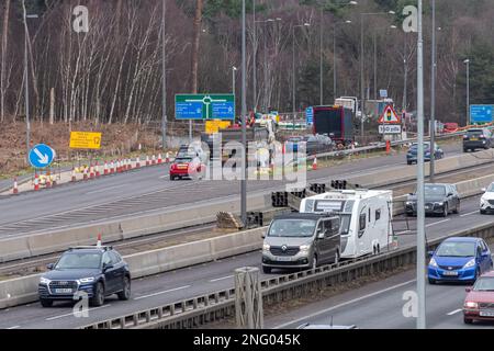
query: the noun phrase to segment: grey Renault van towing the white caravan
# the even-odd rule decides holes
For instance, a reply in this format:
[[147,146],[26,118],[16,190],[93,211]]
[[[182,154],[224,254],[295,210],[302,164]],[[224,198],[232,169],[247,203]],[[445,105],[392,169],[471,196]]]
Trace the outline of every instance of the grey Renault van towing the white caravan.
[[262,246],[262,271],[308,269],[340,258],[340,219],[328,214],[289,214],[271,222]]

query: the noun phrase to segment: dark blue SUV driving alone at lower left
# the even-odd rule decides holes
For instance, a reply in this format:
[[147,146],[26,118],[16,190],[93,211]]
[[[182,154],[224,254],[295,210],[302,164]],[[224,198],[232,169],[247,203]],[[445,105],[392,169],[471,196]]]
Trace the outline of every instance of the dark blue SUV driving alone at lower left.
[[43,307],[50,307],[54,301],[81,299],[85,294],[91,306],[103,305],[112,294],[123,301],[131,298],[128,265],[112,247],[70,248],[47,268],[38,285]]

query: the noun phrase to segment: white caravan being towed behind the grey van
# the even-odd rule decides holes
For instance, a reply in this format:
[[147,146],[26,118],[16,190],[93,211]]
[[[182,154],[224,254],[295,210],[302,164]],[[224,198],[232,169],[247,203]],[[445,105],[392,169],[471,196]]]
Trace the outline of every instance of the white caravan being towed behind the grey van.
[[377,254],[391,242],[392,201],[389,190],[334,190],[302,200],[300,212],[339,214],[339,257],[355,259]]

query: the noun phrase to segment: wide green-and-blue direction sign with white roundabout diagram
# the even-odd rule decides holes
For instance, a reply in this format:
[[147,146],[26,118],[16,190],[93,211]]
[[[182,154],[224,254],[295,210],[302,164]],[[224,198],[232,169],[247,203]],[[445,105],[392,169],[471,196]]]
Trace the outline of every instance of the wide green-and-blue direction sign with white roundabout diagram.
[[233,94],[177,94],[175,97],[176,120],[235,120],[235,95]]

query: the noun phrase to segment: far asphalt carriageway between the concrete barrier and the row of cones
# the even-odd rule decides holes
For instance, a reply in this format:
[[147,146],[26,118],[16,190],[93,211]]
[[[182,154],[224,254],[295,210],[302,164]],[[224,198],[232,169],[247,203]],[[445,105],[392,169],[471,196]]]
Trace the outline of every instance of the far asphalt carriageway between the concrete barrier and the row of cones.
[[[446,156],[461,154],[459,144],[445,147]],[[405,154],[371,157],[307,173],[310,181],[346,179],[392,167],[407,167]],[[248,191],[267,193],[281,189],[281,181],[249,181]],[[122,216],[189,208],[191,204],[237,199],[237,181],[178,181],[168,177],[168,166],[144,168],[124,174],[79,182],[49,191],[30,192],[0,200],[0,238],[105,222]]]

